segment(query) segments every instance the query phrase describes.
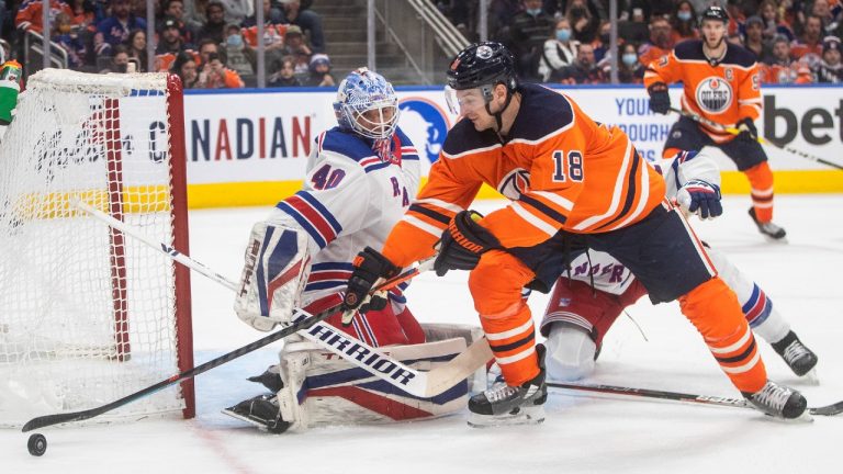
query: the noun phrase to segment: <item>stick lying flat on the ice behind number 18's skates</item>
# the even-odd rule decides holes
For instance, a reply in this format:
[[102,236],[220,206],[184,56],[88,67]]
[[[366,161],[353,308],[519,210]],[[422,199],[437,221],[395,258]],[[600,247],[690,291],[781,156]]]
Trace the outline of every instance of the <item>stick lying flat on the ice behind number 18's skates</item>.
[[[564,388],[570,391],[596,392],[596,393],[603,393],[603,394],[609,394],[609,395],[629,395],[629,396],[637,396],[637,397],[643,397],[643,398],[659,398],[659,399],[668,399],[674,402],[685,402],[685,403],[696,403],[696,404],[705,404],[705,405],[718,405],[718,406],[755,409],[749,402],[746,402],[743,398],[729,398],[729,397],[720,397],[720,396],[711,396],[711,395],[685,394],[679,392],[623,387],[623,386],[617,386],[617,385],[589,385],[589,384],[548,382],[548,386],[553,388]],[[843,413],[843,400],[838,402],[835,404],[821,406],[821,407],[808,408],[808,413],[810,413],[811,415],[819,415],[819,416],[840,415],[841,413]]]

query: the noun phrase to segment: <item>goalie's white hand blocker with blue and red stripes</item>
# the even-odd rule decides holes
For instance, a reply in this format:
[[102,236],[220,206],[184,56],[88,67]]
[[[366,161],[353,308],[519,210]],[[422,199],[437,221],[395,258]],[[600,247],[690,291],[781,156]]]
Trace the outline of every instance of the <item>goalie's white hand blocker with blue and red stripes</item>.
[[271,222],[255,224],[234,311],[255,329],[290,323],[311,272],[307,235]]

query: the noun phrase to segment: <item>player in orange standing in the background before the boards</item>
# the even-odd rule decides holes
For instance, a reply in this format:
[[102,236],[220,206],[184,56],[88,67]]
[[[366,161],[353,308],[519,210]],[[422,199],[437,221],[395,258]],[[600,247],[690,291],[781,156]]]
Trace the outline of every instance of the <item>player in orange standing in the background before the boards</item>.
[[740,135],[734,136],[683,116],[671,128],[664,156],[673,156],[677,149],[719,147],[750,180],[750,216],[758,230],[780,239],[786,233],[773,223],[773,171],[754,124],[762,106],[758,66],[753,53],[726,41],[728,24],[726,10],[709,7],[700,16],[701,40],[683,42],[671,54],[650,63],[644,72],[650,109],[661,114],[670,112],[667,84],[681,81],[684,111],[740,129]]

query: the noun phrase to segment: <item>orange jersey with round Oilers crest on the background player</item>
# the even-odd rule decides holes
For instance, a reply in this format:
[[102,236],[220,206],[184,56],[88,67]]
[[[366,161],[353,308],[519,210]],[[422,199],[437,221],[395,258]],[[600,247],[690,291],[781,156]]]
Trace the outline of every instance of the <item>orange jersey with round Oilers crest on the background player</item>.
[[[670,55],[648,65],[644,87],[655,82],[682,82],[682,109],[724,126],[761,115],[758,65],[749,49],[731,43],[727,43],[726,55],[716,65],[706,59],[701,40],[679,43]],[[713,128],[702,129],[716,143],[734,137]]]

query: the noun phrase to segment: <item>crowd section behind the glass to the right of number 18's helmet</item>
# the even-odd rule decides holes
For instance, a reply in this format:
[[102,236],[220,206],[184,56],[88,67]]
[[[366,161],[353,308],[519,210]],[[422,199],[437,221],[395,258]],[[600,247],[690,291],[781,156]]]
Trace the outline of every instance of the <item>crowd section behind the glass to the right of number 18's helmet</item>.
[[[438,1],[476,40],[477,0]],[[728,41],[755,53],[766,83],[840,82],[841,0],[618,0],[618,80],[640,83],[647,65],[699,38],[711,4],[731,18]],[[561,83],[609,82],[608,0],[490,0],[488,36],[516,55],[520,77]]]

